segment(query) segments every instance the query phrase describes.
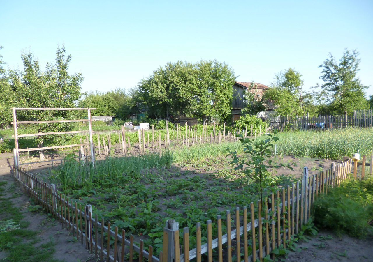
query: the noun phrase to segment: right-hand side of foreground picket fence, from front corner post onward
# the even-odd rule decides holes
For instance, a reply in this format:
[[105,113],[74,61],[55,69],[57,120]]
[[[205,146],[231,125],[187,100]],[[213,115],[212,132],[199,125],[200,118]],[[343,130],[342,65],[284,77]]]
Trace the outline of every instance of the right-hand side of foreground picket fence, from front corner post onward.
[[[222,232],[221,215],[216,218],[217,238],[215,239],[212,236],[212,221],[206,221],[207,243],[201,243],[201,222],[198,222],[196,224],[197,247],[192,250],[189,250],[189,228],[185,227],[180,232],[178,222],[168,221],[164,228],[163,262],[188,262],[194,258],[197,262],[201,262],[203,254],[206,254],[204,261],[207,257],[207,261],[212,262],[213,249],[217,249],[217,261],[231,262],[232,241],[235,242],[236,261],[248,262],[257,259],[263,261],[272,250],[280,246],[286,248],[288,240],[310,219],[311,207],[317,195],[327,194],[330,187],[339,186],[341,181],[347,179],[348,174],[351,173],[351,167],[352,161],[348,159],[312,177],[308,177],[308,169],[305,167],[301,184],[297,182],[278,189],[276,193],[270,194],[264,203],[259,200],[255,204],[251,202],[248,208],[246,206],[242,209],[236,208],[233,226],[231,212],[228,210],[226,234],[223,235]],[[180,234],[183,234],[184,241],[182,249],[179,245]],[[251,250],[255,250],[251,255],[248,255],[249,245]]]

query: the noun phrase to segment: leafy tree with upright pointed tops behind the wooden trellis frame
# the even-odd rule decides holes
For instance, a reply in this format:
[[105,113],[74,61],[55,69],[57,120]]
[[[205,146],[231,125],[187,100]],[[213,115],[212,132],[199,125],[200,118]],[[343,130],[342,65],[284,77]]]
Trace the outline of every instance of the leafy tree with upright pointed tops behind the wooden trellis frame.
[[[65,47],[57,48],[56,60],[46,65],[45,72],[33,54],[22,54],[24,71],[9,70],[10,87],[16,94],[17,105],[22,107],[76,107],[81,97],[81,73],[69,74],[71,56],[66,55]],[[74,117],[74,112],[61,110],[21,110],[18,120],[60,120]],[[72,123],[38,124],[38,132],[68,131]],[[44,142],[63,141],[63,135],[50,135],[38,138]]]

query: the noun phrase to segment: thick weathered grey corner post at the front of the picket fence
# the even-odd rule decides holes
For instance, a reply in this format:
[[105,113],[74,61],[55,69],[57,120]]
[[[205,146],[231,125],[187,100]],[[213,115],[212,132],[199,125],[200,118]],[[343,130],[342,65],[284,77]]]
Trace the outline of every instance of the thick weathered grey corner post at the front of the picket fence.
[[179,246],[175,246],[175,243],[178,242],[179,222],[167,220],[166,226],[163,228],[163,262],[173,262],[174,259],[175,262],[177,259],[180,261]]

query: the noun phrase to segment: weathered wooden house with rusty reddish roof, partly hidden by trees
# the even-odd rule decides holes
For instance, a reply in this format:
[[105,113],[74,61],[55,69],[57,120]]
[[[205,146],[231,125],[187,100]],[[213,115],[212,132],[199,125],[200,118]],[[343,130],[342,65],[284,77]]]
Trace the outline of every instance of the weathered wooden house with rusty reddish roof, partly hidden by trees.
[[[247,89],[250,89],[250,92],[256,92],[258,98],[261,99],[264,92],[269,88],[266,85],[261,83],[254,83],[254,88],[251,88],[251,82],[235,82],[233,85],[233,99],[232,99],[232,121],[239,119],[241,116],[242,108],[245,108],[244,102],[244,93]],[[267,107],[266,111],[260,112],[258,116],[264,117],[268,116],[271,112],[273,112],[273,104],[270,101],[266,101],[265,105]]]

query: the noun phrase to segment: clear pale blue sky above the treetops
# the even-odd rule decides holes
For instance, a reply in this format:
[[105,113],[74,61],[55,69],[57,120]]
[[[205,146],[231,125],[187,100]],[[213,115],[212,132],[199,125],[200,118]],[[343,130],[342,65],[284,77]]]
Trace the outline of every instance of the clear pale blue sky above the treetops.
[[83,91],[132,88],[168,61],[225,61],[238,81],[269,85],[289,67],[308,89],[328,53],[357,49],[373,94],[373,1],[6,1],[0,45],[11,69],[30,50],[41,65],[72,55]]

